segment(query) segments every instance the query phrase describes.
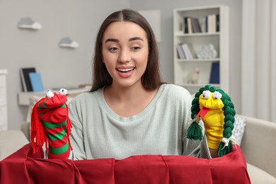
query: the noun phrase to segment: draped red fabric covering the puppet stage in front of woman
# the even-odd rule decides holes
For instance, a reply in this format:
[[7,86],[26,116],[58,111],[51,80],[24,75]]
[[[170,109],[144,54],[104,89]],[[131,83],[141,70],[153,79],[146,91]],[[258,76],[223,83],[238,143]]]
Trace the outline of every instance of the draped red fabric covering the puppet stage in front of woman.
[[0,162],[0,183],[251,183],[239,146],[216,159],[139,155],[126,159],[42,159],[26,144]]

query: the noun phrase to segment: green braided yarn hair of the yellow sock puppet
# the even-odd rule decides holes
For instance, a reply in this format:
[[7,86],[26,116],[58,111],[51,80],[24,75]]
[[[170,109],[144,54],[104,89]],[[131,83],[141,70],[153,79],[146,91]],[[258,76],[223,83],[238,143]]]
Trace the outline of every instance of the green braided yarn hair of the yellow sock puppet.
[[[235,115],[236,111],[234,109],[234,104],[231,102],[231,98],[224,93],[224,91],[220,88],[216,88],[214,86],[206,85],[205,87],[200,88],[200,90],[195,93],[195,98],[192,100],[192,107],[191,107],[191,117],[192,119],[195,118],[197,113],[200,112],[200,95],[203,91],[210,91],[214,93],[218,91],[222,94],[222,102],[224,103],[224,107],[222,108],[224,112],[224,131],[223,137],[229,139],[232,135],[232,130],[234,129],[234,122],[235,122]],[[199,131],[200,130],[200,131]],[[189,139],[203,139],[202,131],[200,125],[197,122],[192,122],[192,125],[187,130],[187,137]],[[228,146],[224,147],[224,142],[220,142],[218,148],[218,156],[224,156],[232,151],[233,143],[230,141]]]

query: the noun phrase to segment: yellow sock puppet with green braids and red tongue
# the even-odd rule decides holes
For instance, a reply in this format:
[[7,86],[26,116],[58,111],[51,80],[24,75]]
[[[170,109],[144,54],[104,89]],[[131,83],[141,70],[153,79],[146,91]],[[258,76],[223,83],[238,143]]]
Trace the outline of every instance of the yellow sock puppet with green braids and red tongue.
[[192,100],[192,124],[188,127],[188,139],[203,139],[198,123],[204,123],[207,143],[210,149],[217,149],[223,156],[232,151],[235,138],[232,136],[235,115],[231,98],[220,88],[207,85],[195,93]]

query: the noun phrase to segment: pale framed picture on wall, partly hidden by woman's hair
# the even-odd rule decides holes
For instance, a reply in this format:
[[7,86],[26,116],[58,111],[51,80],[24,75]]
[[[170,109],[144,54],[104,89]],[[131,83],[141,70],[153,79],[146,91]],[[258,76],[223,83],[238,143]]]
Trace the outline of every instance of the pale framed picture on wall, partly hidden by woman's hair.
[[157,42],[161,42],[161,11],[160,10],[142,10],[138,11],[154,30],[154,35]]

